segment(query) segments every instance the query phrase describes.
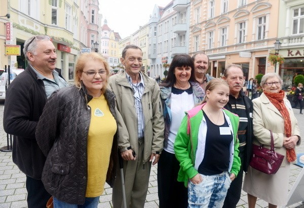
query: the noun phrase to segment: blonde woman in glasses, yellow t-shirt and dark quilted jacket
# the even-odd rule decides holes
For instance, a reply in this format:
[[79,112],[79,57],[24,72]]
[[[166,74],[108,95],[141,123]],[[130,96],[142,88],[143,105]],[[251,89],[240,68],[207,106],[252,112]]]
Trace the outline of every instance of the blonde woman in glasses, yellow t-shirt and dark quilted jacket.
[[55,92],[37,124],[47,156],[42,174],[54,207],[97,207],[104,184],[115,179],[118,137],[128,135],[107,89],[109,65],[98,53],[82,54],[75,85]]

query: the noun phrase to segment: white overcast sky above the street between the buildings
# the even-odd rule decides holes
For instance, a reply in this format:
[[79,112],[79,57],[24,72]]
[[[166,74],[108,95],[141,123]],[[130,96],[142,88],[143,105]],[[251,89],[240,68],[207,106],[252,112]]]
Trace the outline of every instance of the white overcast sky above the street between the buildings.
[[165,7],[171,0],[99,0],[99,13],[121,38],[134,33],[149,21],[155,5]]

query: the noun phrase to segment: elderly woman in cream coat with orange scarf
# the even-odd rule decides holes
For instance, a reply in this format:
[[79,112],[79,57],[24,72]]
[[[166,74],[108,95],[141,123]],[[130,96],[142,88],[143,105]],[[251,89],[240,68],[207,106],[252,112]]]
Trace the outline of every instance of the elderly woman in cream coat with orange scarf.
[[247,192],[249,207],[256,199],[269,203],[269,207],[287,204],[289,165],[296,160],[295,146],[300,143],[300,132],[290,102],[281,90],[283,80],[276,73],[263,75],[260,86],[263,93],[253,102],[253,143],[270,149],[273,132],[275,151],[285,155],[278,172],[267,175],[249,166],[243,190]]

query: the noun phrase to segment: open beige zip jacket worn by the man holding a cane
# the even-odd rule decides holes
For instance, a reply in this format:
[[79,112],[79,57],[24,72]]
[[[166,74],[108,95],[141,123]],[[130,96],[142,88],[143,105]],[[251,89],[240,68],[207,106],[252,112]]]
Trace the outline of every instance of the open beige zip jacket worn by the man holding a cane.
[[[144,155],[143,162],[149,160],[151,153],[160,154],[164,143],[164,116],[160,98],[160,87],[156,80],[141,73],[144,91],[141,98],[144,114]],[[134,108],[134,92],[131,88],[126,72],[123,71],[109,78],[109,86],[116,95],[117,108],[129,132],[129,140],[120,139],[120,151],[131,147],[138,153],[137,114]]]

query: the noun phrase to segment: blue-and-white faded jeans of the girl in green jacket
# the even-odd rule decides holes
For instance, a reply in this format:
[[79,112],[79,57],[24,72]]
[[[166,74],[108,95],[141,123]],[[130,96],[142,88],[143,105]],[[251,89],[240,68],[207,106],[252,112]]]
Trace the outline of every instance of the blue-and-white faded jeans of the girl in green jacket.
[[201,177],[198,185],[188,182],[188,207],[222,207],[231,184],[229,173]]

